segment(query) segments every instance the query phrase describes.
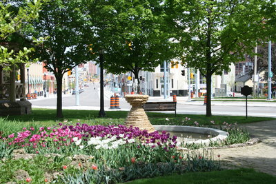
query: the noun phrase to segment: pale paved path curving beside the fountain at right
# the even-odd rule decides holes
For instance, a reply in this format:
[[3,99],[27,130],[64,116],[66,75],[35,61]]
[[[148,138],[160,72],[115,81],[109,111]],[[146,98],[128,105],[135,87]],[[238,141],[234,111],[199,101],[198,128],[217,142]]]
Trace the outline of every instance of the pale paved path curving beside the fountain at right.
[[[276,120],[240,125],[261,143],[213,150],[225,167],[248,167],[276,176]],[[217,156],[215,156],[217,158]],[[217,158],[218,159],[218,158]]]

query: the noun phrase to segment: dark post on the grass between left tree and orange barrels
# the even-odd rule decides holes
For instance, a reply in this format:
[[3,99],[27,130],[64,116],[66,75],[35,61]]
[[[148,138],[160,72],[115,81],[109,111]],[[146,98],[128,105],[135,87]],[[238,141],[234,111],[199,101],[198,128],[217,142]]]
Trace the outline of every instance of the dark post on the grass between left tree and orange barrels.
[[103,53],[104,50],[99,50],[99,67],[100,67],[100,110],[99,117],[105,117],[106,112],[104,112],[104,101],[103,101]]

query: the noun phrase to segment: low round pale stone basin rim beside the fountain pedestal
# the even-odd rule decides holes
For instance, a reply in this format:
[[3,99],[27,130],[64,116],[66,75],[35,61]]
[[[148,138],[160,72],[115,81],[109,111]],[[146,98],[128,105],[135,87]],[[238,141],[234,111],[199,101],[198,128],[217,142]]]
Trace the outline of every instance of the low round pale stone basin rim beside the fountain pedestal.
[[190,127],[190,126],[179,126],[179,125],[153,125],[155,130],[157,131],[166,131],[166,132],[176,132],[177,134],[181,134],[181,132],[191,132],[195,134],[202,134],[202,137],[210,135],[210,139],[186,139],[186,137],[179,137],[177,136],[178,142],[184,143],[202,143],[209,145],[212,141],[222,141],[227,138],[228,132],[218,130],[215,128],[209,127]]

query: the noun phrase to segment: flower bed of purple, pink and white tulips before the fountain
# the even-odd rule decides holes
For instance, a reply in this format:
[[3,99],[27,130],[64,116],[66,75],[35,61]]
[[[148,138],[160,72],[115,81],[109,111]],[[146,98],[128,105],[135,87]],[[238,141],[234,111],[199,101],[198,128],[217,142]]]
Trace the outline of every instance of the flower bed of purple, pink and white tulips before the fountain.
[[[8,167],[17,161],[21,164],[20,169],[30,174],[25,181],[33,183],[121,183],[173,172],[219,169],[211,159],[211,153],[179,152],[176,139],[164,131],[148,133],[124,125],[59,123],[57,127],[40,127],[38,130],[23,128],[22,132],[10,134],[0,141],[0,170],[10,172],[8,177],[0,176],[0,183],[20,180],[14,174],[17,170]],[[14,161],[12,150],[22,148],[23,154],[32,155],[32,159]],[[41,161],[34,158],[43,158],[49,165],[56,166],[51,169],[44,166],[43,172],[30,172],[26,165],[39,167]]]

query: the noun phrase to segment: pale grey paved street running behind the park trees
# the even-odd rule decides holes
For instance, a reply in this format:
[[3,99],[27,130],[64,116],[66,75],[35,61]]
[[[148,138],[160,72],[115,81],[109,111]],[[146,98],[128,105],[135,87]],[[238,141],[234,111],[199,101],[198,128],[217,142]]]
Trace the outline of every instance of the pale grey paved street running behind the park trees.
[[[94,89],[95,88],[95,89]],[[105,110],[110,110],[110,96],[113,93],[109,88],[104,88]],[[63,94],[63,109],[99,110],[99,84],[90,83],[84,92],[79,94],[79,104],[75,105],[75,95]],[[150,96],[149,101],[165,101],[163,96]],[[166,99],[172,101],[172,97]],[[57,96],[48,96],[30,101],[33,108],[56,108]],[[120,98],[120,110],[130,110],[130,105],[124,98]],[[276,103],[271,102],[248,102],[248,116],[276,117]],[[166,112],[173,113],[173,112]],[[177,113],[179,114],[206,114],[206,105],[203,101],[188,101],[186,96],[177,96]],[[213,101],[212,113],[214,115],[238,115],[245,116],[245,102],[241,101]]]

